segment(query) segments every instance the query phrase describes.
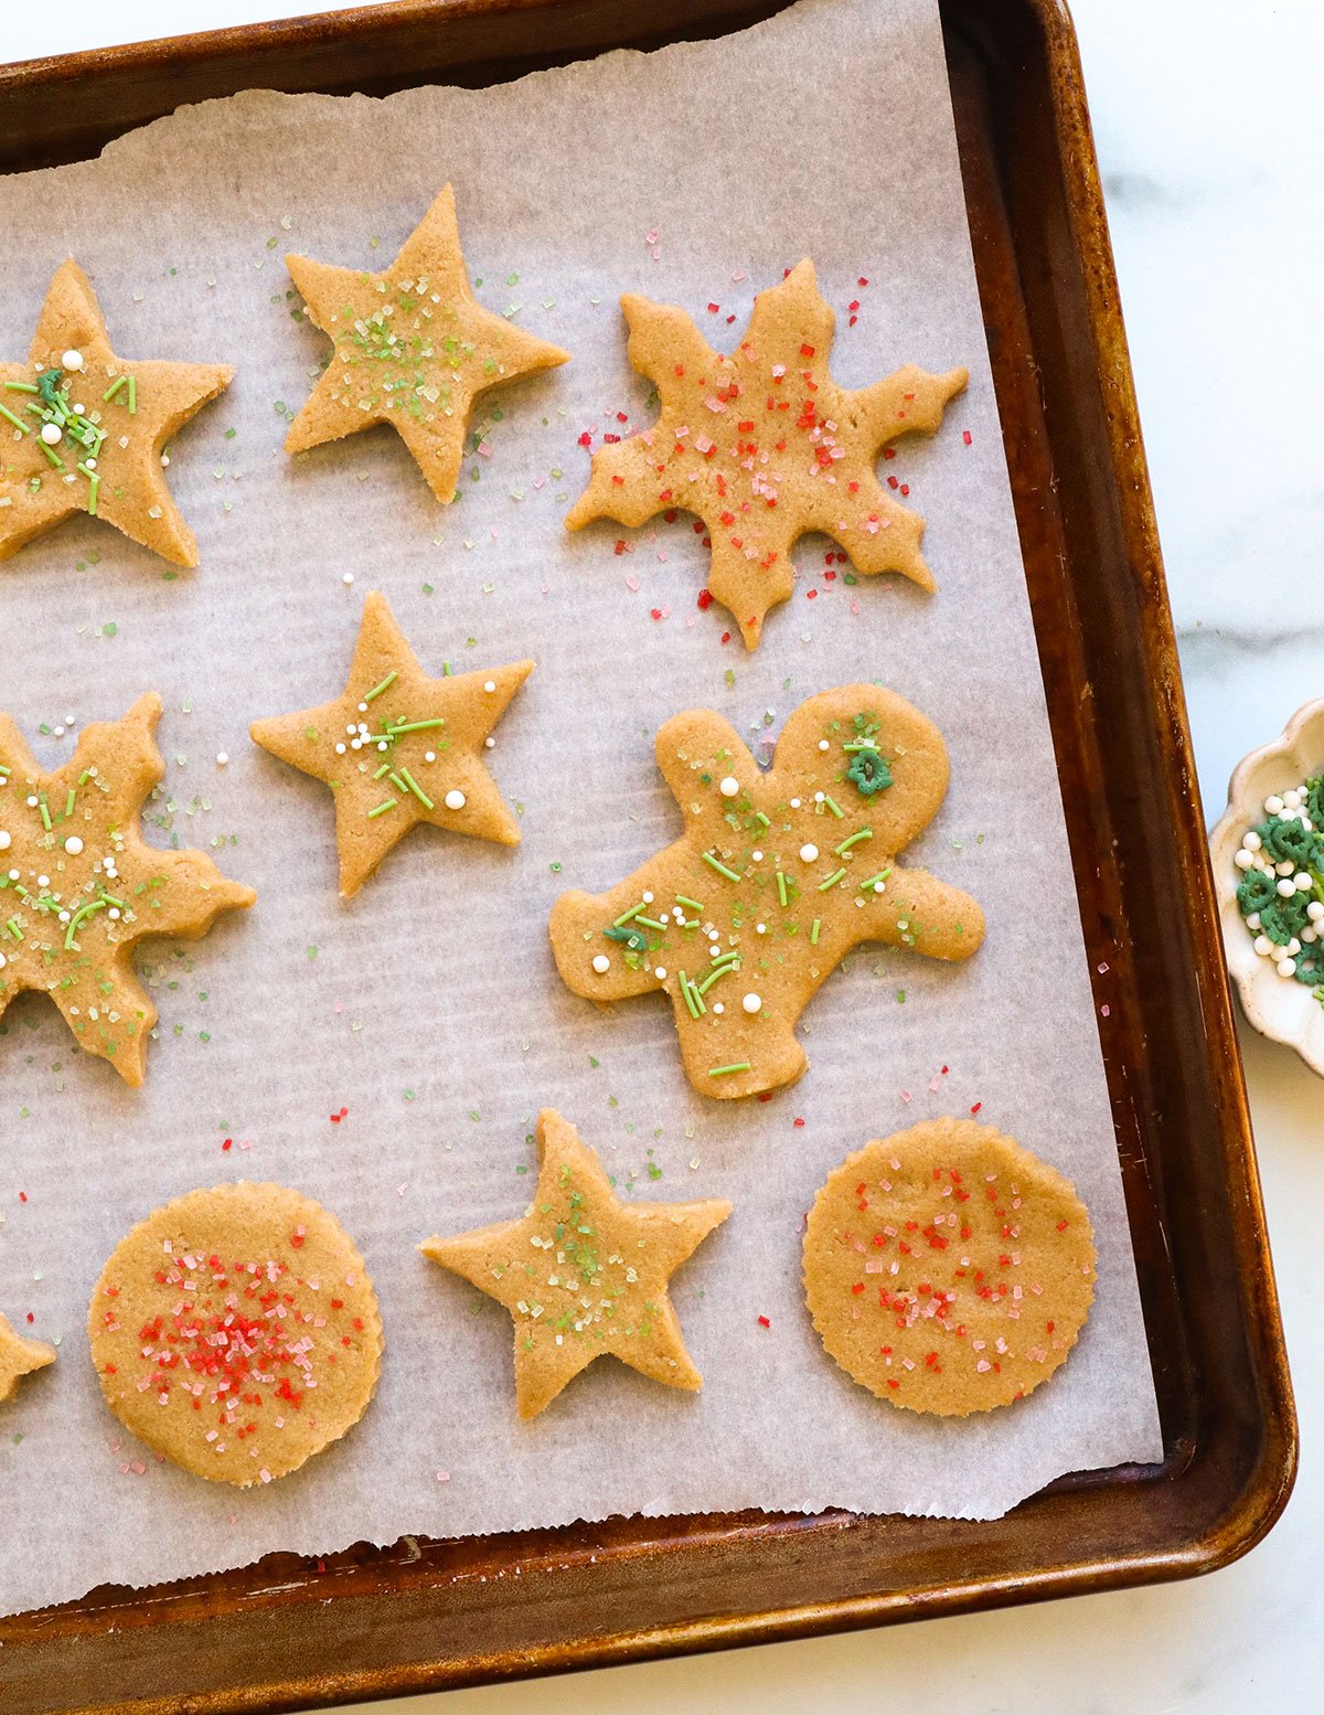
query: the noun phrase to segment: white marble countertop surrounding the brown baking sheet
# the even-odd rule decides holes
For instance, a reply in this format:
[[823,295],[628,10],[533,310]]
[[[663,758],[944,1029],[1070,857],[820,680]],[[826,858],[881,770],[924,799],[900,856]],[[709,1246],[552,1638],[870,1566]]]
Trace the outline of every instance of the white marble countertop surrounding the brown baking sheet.
[[[31,58],[297,9],[9,7],[0,50]],[[1324,7],[1075,0],[1074,12],[1214,820],[1238,756],[1324,695]],[[1286,1514],[1247,1559],[1194,1583],[372,1705],[376,1715],[1319,1708],[1321,1086],[1288,1050],[1247,1031],[1242,1046],[1305,1447]]]

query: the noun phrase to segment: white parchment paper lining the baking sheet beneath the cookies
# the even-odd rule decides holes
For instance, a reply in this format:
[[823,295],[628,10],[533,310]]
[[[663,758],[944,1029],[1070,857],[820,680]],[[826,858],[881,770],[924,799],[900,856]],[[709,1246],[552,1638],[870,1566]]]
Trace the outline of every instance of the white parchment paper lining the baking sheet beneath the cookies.
[[[389,429],[298,461],[281,451],[326,353],[292,317],[281,256],[381,268],[446,180],[480,298],[518,305],[575,360],[494,396],[477,480],[439,509]],[[89,520],[24,549],[0,569],[0,707],[33,736],[65,725],[34,737],[55,763],[67,717],[117,717],[159,689],[170,768],[153,837],[213,851],[259,890],[201,945],[149,945],[161,1024],[144,1089],[81,1056],[46,1002],[5,1019],[0,1305],[62,1348],[0,1410],[0,1607],[278,1549],[612,1513],[988,1518],[1065,1470],[1158,1458],[933,0],[804,0],[722,41],[482,93],[206,103],[96,163],[2,182],[0,211],[5,353],[26,353],[72,252],[120,352],[238,367],[172,449],[199,571],[175,576]],[[681,304],[732,346],[753,293],[806,254],[839,310],[840,381],[906,360],[967,364],[972,379],[935,442],[883,466],[928,516],[938,593],[851,585],[806,539],[794,600],[746,655],[720,641],[719,609],[696,609],[707,556],[688,518],[578,537],[561,520],[587,477],[578,436],[626,432],[617,412],[652,420],[617,293]],[[328,792],[257,751],[247,722],[340,691],[372,587],[432,671],[537,657],[492,753],[525,839],[509,852],[420,828],[345,906]],[[952,789],[911,856],[976,894],[988,942],[957,969],[864,948],[804,1017],[796,1089],[707,1101],[660,996],[595,1012],[561,986],[549,907],[672,837],[652,760],[667,715],[708,705],[767,753],[792,707],[851,679],[894,686],[945,732]],[[1075,1180],[1099,1290],[1051,1386],[988,1418],[924,1422],[823,1355],[801,1219],[851,1149],[974,1103]],[[604,1362],[520,1423],[509,1319],[415,1254],[429,1233],[525,1207],[544,1104],[623,1188],[734,1202],[676,1286],[701,1396]],[[122,1432],[84,1336],[122,1233],[237,1176],[300,1187],[341,1218],[388,1329],[362,1425],[247,1492]]]

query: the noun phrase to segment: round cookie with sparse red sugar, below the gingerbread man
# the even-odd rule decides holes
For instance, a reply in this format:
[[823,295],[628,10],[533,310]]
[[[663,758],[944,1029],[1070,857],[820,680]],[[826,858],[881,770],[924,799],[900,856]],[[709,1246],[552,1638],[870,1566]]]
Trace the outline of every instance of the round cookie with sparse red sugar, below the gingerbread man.
[[804,1295],[828,1355],[911,1411],[967,1417],[1046,1381],[1094,1298],[1075,1188],[974,1120],[875,1139],[827,1176]]

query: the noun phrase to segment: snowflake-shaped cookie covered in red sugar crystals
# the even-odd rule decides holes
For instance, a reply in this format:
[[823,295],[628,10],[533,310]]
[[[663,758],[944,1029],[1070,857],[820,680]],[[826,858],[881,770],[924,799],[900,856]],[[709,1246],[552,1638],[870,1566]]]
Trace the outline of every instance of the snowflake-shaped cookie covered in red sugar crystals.
[[679,509],[712,539],[708,590],[736,617],[748,648],[763,617],[791,595],[791,551],[821,530],[858,571],[899,571],[921,588],[924,520],[878,482],[878,454],[904,434],[935,434],[967,376],[907,364],[851,391],[828,374],[835,316],[813,262],[760,292],[731,353],[713,352],[684,314],[626,293],[629,362],[657,388],[652,429],[593,454],[568,530],[595,518],[641,525]]

